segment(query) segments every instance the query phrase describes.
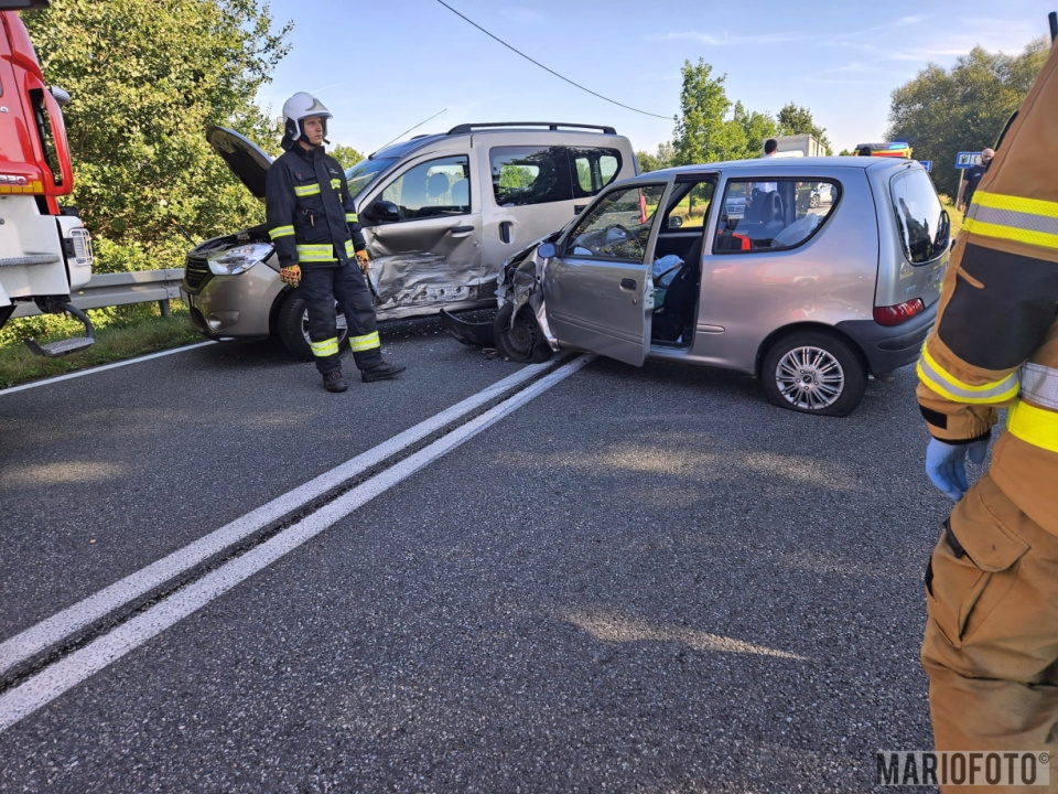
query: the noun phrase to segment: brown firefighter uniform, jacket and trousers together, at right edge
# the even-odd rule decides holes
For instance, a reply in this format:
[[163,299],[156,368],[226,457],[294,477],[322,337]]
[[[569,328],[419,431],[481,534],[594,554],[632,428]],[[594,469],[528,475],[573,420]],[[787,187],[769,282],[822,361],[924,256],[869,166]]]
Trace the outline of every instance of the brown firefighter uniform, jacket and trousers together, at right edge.
[[922,666],[936,745],[1047,750],[1051,786],[1058,786],[1056,313],[1058,47],[973,195],[918,364],[918,401],[935,438],[987,437],[997,409],[1008,409],[990,470],[944,523],[926,573]]

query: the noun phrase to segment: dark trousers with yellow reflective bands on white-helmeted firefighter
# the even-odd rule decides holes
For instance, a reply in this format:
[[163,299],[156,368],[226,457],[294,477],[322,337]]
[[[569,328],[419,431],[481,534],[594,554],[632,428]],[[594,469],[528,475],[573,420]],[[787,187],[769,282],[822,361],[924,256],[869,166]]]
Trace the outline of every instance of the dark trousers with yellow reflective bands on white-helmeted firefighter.
[[356,366],[369,369],[382,363],[371,293],[356,264],[303,267],[301,293],[309,307],[309,340],[316,369],[323,375],[342,371],[335,301],[348,324],[349,347]]

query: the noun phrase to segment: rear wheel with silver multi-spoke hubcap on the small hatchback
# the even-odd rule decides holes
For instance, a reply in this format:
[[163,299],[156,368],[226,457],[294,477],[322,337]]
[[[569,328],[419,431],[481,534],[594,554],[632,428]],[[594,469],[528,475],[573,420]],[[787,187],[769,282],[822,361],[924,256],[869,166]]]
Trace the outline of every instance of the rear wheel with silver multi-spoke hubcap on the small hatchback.
[[781,408],[849,416],[867,387],[867,368],[842,339],[821,331],[799,331],[768,348],[760,379],[768,399]]

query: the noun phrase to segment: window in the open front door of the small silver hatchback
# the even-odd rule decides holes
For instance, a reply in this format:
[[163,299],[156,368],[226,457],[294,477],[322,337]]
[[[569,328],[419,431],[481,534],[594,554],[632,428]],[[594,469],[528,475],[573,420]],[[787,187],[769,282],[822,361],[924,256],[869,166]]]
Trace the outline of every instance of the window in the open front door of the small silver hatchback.
[[574,227],[568,253],[643,261],[665,185],[616,190],[586,211]]

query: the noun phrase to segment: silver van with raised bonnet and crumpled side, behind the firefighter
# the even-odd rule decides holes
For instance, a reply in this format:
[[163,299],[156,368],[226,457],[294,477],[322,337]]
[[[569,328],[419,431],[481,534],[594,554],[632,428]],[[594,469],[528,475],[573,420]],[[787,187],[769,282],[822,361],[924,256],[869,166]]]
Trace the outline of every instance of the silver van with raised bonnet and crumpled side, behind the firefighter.
[[[207,138],[263,198],[272,159],[229,129],[210,128]],[[628,139],[590,125],[461,125],[375,152],[346,178],[378,319],[494,305],[497,272],[512,253],[637,173]],[[210,339],[278,334],[292,353],[312,358],[305,302],[279,279],[263,225],[196,246],[181,293],[192,323]],[[346,334],[339,313],[339,343]]]

